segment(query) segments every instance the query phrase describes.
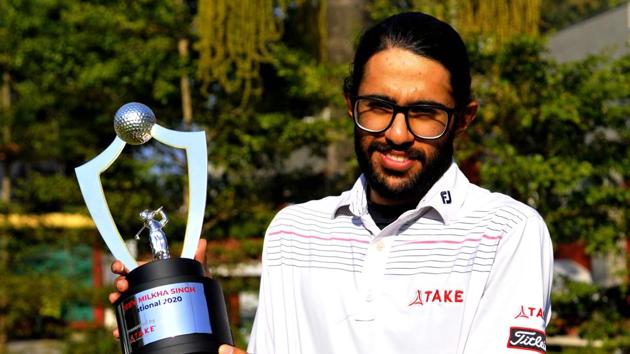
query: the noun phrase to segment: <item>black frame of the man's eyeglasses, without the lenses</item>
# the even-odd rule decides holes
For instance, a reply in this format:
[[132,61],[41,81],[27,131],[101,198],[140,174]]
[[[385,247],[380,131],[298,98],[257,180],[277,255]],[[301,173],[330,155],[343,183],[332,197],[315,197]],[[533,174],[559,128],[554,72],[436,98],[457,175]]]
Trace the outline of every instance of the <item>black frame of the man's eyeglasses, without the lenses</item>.
[[[380,129],[380,130],[367,129],[363,127],[361,124],[359,124],[358,117],[357,117],[358,116],[357,109],[358,109],[358,102],[360,99],[368,99],[368,100],[384,103],[391,106],[393,108],[393,112],[392,112],[392,117],[389,119],[389,124],[387,124],[385,128]],[[425,136],[420,136],[416,134],[413,131],[413,129],[411,129],[411,125],[409,124],[409,110],[414,107],[439,109],[446,112],[446,115],[447,115],[446,124],[444,125],[444,130],[442,131],[442,133],[436,136],[432,136],[432,137],[425,137]],[[407,124],[407,130],[409,130],[411,134],[415,136],[416,138],[424,139],[424,140],[435,140],[435,139],[441,138],[444,135],[444,133],[446,133],[446,131],[448,130],[448,126],[451,123],[451,118],[453,117],[455,112],[457,112],[456,108],[449,108],[439,103],[420,103],[420,104],[412,104],[408,106],[400,106],[392,101],[384,100],[380,97],[374,97],[374,96],[356,96],[353,98],[353,104],[352,104],[352,118],[354,120],[354,124],[356,124],[356,126],[359,127],[359,129],[366,131],[368,133],[374,133],[374,134],[382,133],[392,126],[392,123],[394,122],[394,118],[396,118],[396,115],[398,113],[402,113],[405,116],[405,123]]]

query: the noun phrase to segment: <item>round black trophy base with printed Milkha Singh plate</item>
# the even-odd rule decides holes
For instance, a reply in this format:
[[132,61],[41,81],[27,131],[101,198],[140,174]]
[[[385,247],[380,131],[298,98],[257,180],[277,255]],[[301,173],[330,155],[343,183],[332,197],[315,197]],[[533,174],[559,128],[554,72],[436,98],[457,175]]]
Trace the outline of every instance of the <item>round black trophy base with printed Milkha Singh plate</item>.
[[127,275],[129,290],[116,301],[124,354],[218,352],[233,344],[219,283],[188,258],[157,260]]

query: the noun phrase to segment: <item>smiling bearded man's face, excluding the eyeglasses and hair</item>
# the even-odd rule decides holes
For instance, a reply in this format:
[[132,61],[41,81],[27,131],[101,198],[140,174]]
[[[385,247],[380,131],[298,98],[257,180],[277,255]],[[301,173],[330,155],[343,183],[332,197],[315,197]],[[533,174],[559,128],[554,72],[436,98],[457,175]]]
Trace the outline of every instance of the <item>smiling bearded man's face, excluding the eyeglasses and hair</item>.
[[[385,49],[368,60],[358,94],[379,96],[398,105],[455,107],[448,70],[435,60],[400,48]],[[416,138],[402,113],[382,133],[355,127],[355,150],[368,178],[370,200],[379,204],[418,202],[451,163],[453,120],[436,140]]]

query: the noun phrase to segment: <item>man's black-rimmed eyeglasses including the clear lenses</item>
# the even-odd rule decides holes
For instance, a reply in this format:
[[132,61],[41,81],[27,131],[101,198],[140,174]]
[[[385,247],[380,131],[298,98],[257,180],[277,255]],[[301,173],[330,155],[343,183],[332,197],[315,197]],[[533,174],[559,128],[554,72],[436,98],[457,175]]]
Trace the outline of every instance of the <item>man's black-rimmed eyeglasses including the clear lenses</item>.
[[403,113],[407,128],[421,139],[437,139],[444,135],[455,109],[440,104],[399,106],[377,97],[359,96],[354,101],[354,122],[370,133],[386,131],[396,114]]

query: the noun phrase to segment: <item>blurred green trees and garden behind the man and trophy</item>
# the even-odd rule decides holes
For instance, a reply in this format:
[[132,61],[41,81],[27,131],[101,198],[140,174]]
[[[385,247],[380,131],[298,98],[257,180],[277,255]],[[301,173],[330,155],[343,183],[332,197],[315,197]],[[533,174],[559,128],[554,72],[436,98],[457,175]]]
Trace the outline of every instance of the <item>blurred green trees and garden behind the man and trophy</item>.
[[[468,176],[537,208],[558,255],[569,250],[587,266],[602,255],[621,260],[607,269],[614,281],[557,278],[548,335],[582,346],[550,352],[628,352],[630,56],[608,48],[562,61],[549,46],[566,27],[628,7],[620,0],[1,0],[0,353],[33,339],[55,340],[58,352],[119,350],[107,328],[111,259],[87,218],[74,168],[112,141],[113,114],[130,101],[151,107],[163,126],[208,135],[203,235],[210,263],[228,266],[217,275],[245,345],[252,314],[241,308],[242,294],[255,293],[258,280],[235,269],[256,263],[279,208],[339,193],[357,177],[342,80],[361,29],[403,10],[452,23],[468,45],[481,104],[457,142]],[[103,175],[123,235],[140,228],[139,211],[164,205],[167,234],[180,247],[184,171],[183,156],[157,143],[125,149]]]

